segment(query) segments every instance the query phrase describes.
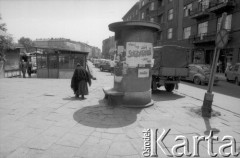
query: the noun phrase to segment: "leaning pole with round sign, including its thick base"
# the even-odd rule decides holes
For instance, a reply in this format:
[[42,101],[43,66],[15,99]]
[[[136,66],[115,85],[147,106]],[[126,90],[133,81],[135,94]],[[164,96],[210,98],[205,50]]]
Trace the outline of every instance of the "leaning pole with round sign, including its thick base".
[[213,83],[214,83],[214,76],[217,69],[219,53],[220,53],[220,49],[223,49],[226,46],[228,42],[228,37],[229,37],[228,31],[224,29],[226,17],[227,17],[227,13],[223,13],[221,23],[220,23],[220,28],[216,35],[216,43],[215,43],[216,47],[214,50],[214,57],[213,57],[211,74],[210,74],[209,83],[208,83],[208,90],[205,93],[204,101],[202,105],[202,117],[207,117],[207,118],[211,117],[212,102],[213,102],[212,89],[213,89]]

